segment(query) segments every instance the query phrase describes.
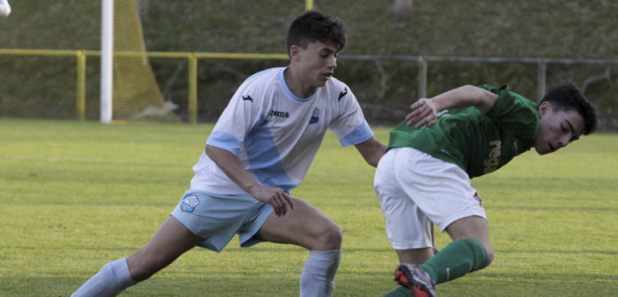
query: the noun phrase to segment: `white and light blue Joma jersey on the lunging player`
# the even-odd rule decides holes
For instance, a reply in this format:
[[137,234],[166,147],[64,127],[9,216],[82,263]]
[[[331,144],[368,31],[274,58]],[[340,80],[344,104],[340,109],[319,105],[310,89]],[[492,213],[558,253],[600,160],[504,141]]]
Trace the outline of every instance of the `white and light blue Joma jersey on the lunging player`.
[[[306,99],[292,94],[286,67],[266,69],[244,81],[206,144],[224,148],[264,186],[291,190],[303,181],[326,129],[343,146],[374,133],[350,88],[331,78]],[[206,155],[193,167],[191,188],[218,195],[247,195]]]

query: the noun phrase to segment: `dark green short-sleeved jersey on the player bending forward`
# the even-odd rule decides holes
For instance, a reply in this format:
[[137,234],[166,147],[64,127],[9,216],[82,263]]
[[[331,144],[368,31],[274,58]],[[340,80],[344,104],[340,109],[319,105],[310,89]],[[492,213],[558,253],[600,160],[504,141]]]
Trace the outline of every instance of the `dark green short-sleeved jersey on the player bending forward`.
[[470,178],[492,173],[534,145],[538,129],[536,103],[506,85],[481,85],[499,98],[488,113],[476,107],[448,109],[430,127],[402,122],[391,131],[388,148],[412,147],[453,163]]

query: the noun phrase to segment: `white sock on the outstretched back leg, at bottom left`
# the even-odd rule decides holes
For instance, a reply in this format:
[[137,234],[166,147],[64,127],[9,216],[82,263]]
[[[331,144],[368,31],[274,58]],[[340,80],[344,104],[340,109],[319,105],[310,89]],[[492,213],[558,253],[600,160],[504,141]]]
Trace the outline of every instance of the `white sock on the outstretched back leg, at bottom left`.
[[112,297],[135,285],[126,265],[126,258],[107,263],[71,297]]

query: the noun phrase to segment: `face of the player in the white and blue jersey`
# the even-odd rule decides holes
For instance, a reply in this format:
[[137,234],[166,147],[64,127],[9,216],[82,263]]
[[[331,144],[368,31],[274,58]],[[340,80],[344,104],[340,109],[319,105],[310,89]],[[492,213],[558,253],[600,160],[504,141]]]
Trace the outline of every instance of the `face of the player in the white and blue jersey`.
[[339,48],[334,44],[309,43],[305,49],[293,47],[293,58],[309,87],[323,87],[337,67]]

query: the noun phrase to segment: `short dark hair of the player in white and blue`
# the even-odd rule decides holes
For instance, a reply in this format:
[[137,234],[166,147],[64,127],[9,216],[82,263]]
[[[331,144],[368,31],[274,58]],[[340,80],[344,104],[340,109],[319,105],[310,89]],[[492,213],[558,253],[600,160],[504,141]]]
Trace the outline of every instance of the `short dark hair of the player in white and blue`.
[[345,47],[346,35],[347,27],[341,19],[330,17],[317,10],[308,10],[299,15],[288,28],[288,34],[286,34],[288,56],[292,45],[304,49],[309,43],[316,41],[333,43],[341,51]]

